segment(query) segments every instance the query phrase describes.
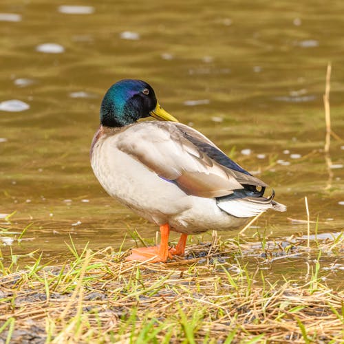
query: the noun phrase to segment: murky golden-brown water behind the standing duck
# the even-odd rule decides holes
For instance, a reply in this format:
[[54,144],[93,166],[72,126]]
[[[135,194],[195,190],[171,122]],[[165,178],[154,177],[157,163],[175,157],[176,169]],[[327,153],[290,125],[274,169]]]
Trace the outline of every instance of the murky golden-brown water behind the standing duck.
[[[125,228],[154,236],[155,226],[111,200],[89,166],[100,100],[121,78],[147,80],[167,111],[260,171],[288,213],[267,213],[258,230],[305,234],[305,224],[290,220],[306,218],[305,196],[319,233],[343,230],[343,1],[61,5],[0,4],[0,102],[30,105],[0,111],[0,213],[16,211],[12,225],[0,222],[18,233],[32,224],[20,244],[1,233],[10,238],[3,255],[39,248],[57,261],[69,234],[92,248],[119,247]],[[341,138],[332,138],[332,178],[323,154],[327,61],[332,129]]]

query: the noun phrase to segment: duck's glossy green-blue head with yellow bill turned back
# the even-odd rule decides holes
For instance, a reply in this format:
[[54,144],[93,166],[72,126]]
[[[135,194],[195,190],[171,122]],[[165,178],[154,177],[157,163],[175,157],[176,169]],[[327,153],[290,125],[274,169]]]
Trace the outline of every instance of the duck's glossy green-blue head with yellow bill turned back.
[[100,123],[106,127],[123,127],[140,118],[178,122],[160,107],[153,88],[142,80],[120,80],[105,94],[100,106]]

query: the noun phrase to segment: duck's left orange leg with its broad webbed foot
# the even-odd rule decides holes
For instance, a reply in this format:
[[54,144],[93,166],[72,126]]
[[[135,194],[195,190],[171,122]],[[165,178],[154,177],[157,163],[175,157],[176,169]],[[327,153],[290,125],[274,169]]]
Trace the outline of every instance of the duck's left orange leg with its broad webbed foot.
[[169,234],[170,226],[169,224],[163,224],[160,226],[161,240],[160,245],[142,248],[133,248],[131,255],[127,257],[127,260],[138,260],[146,261],[151,259],[152,263],[157,263],[158,261],[165,262],[169,255]]

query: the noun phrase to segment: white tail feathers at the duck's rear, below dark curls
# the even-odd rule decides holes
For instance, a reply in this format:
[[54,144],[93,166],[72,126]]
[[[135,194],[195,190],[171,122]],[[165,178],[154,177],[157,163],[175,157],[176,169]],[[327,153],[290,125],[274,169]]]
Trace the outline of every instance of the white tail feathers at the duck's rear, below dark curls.
[[217,206],[235,217],[252,217],[268,209],[273,209],[274,211],[287,210],[284,204],[272,200],[270,202],[266,201],[267,199],[263,199],[260,202],[258,199],[252,200],[248,198],[223,199],[217,200]]

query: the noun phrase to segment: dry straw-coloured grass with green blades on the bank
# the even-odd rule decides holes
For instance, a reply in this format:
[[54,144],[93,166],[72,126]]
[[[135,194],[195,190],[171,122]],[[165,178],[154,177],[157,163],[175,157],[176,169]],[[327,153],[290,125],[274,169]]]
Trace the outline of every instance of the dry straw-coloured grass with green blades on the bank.
[[[343,234],[299,254],[343,252]],[[189,247],[169,264],[124,261],[106,248],[62,266],[36,264],[0,277],[0,341],[6,343],[343,343],[344,292],[319,278],[319,257],[302,285],[269,283],[235,258],[257,242]],[[261,243],[261,248],[266,243]],[[261,250],[260,248],[260,250]],[[290,248],[275,243],[281,259]],[[283,252],[282,252],[283,251]],[[266,252],[266,249],[265,251]],[[268,255],[275,257],[271,254]],[[271,258],[272,259],[272,258]],[[258,264],[259,265],[259,264]]]

